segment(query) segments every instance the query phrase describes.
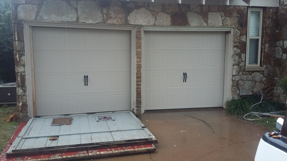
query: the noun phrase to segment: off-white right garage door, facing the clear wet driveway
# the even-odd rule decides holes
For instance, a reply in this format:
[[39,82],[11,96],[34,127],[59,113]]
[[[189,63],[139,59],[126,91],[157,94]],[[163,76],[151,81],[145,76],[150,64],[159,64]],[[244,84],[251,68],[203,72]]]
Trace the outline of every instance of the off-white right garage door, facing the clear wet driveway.
[[144,32],[145,110],[222,107],[224,58],[225,32]]

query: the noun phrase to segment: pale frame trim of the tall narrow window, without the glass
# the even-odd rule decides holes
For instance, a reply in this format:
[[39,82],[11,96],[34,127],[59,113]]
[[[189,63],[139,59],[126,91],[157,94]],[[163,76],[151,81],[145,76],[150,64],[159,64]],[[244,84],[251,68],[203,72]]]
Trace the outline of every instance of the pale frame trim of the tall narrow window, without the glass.
[[[259,36],[249,36],[250,30],[250,13],[251,11],[260,11],[259,20]],[[262,42],[262,20],[263,19],[263,9],[262,8],[248,8],[248,26],[247,26],[247,40],[246,40],[246,66],[260,66],[261,58],[261,42]],[[250,39],[258,39],[258,53],[257,53],[257,64],[249,64],[249,41]]]

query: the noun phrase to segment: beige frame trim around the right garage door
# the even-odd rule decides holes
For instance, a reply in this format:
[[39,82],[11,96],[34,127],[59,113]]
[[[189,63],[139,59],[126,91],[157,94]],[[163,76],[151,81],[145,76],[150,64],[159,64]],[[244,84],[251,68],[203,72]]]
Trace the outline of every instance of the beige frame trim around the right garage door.
[[[196,31],[204,31],[204,32],[214,32],[214,31],[225,31],[225,65],[224,65],[224,85],[223,85],[223,105],[225,100],[231,98],[231,78],[232,78],[232,54],[233,54],[233,35],[234,28],[231,27],[150,27],[144,26],[142,27],[142,46],[144,47],[144,31],[188,31],[188,32],[196,32]],[[142,53],[144,53],[144,48],[142,49]],[[144,70],[144,54],[142,54],[142,69]],[[144,71],[142,71],[144,73]],[[144,96],[144,83],[142,79],[142,97]],[[142,98],[144,100],[144,98]],[[145,110],[144,101],[142,102],[142,113]]]

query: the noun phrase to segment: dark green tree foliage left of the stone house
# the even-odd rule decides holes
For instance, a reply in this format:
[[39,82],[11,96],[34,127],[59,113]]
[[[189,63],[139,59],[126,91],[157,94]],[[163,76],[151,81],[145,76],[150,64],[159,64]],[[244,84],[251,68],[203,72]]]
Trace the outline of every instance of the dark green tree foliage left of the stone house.
[[11,0],[0,0],[0,79],[16,81]]

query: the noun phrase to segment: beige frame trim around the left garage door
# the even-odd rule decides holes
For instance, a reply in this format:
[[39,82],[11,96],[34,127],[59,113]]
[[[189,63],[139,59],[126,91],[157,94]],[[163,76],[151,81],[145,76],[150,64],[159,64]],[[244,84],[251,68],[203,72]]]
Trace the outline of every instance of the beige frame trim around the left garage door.
[[135,56],[135,26],[120,25],[102,25],[102,24],[78,24],[63,22],[42,22],[42,21],[24,21],[24,42],[25,42],[25,72],[27,87],[27,104],[28,117],[36,116],[35,107],[35,85],[33,82],[33,44],[32,44],[32,27],[64,27],[79,29],[104,29],[104,30],[129,30],[131,31],[131,108],[135,108],[136,100],[136,56]]

